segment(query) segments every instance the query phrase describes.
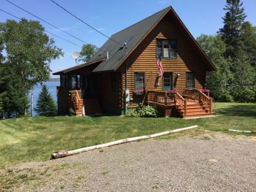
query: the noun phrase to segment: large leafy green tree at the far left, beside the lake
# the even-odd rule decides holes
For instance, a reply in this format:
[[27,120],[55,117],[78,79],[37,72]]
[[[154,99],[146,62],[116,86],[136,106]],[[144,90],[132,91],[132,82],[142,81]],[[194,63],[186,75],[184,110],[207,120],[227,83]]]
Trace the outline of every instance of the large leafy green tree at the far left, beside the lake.
[[1,45],[7,53],[3,62],[7,75],[11,76],[7,81],[8,98],[4,98],[10,105],[4,105],[4,112],[23,116],[29,107],[29,91],[37,83],[48,80],[50,61],[63,53],[37,21],[7,20],[6,23],[0,23],[0,34]]

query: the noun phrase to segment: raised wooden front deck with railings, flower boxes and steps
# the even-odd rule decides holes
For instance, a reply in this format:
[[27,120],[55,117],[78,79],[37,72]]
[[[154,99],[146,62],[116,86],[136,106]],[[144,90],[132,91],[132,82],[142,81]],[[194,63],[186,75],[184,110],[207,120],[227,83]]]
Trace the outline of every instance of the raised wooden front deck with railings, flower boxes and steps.
[[156,106],[165,117],[197,118],[214,115],[209,93],[203,93],[199,89],[185,89],[182,94],[147,91],[146,96],[146,102]]

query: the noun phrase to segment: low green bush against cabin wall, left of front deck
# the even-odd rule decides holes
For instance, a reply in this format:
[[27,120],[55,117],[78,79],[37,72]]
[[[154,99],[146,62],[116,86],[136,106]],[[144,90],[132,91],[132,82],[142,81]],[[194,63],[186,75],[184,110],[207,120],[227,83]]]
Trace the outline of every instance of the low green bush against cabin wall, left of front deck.
[[157,118],[159,115],[159,112],[155,107],[151,106],[143,106],[143,107],[136,107],[136,108],[131,108],[127,111],[125,114],[126,117],[133,117],[133,118]]

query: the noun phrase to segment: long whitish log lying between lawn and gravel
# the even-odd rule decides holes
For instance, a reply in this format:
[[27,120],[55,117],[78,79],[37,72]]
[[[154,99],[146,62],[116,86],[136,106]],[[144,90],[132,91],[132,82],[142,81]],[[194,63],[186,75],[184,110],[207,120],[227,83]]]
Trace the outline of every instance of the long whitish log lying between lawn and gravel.
[[83,152],[87,152],[90,150],[96,150],[96,149],[100,149],[103,147],[110,147],[113,145],[120,145],[122,143],[127,143],[127,142],[135,142],[141,139],[150,139],[150,138],[154,138],[154,137],[159,137],[159,136],[163,136],[163,135],[167,135],[167,134],[174,134],[177,133],[179,131],[185,131],[191,128],[196,128],[197,126],[189,126],[189,127],[184,127],[184,128],[177,128],[174,130],[170,130],[170,131],[165,131],[162,133],[158,133],[158,134],[151,134],[151,135],[144,135],[144,136],[140,136],[140,137],[131,137],[131,138],[127,138],[127,139],[120,139],[117,140],[115,142],[107,142],[105,144],[100,144],[100,145],[94,145],[91,147],[83,147],[80,148],[78,150],[60,150],[59,152],[55,152],[51,155],[51,159],[55,159],[55,158],[64,158],[67,157],[69,155],[76,155],[78,153],[83,153]]

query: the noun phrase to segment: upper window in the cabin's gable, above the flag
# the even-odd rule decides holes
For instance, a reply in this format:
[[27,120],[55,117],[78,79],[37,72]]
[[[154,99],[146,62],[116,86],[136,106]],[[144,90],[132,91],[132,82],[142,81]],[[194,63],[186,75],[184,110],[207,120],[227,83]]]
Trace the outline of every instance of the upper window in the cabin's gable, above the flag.
[[157,39],[157,58],[159,55],[161,55],[162,58],[176,58],[177,41],[170,39]]

